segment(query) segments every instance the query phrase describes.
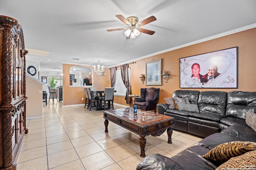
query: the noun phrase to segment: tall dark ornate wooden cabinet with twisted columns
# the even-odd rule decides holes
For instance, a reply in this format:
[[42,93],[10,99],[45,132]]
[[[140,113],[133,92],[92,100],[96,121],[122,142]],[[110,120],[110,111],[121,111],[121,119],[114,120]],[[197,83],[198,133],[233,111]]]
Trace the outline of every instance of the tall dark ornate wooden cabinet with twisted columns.
[[18,21],[0,16],[0,169],[16,170],[26,129],[26,59]]

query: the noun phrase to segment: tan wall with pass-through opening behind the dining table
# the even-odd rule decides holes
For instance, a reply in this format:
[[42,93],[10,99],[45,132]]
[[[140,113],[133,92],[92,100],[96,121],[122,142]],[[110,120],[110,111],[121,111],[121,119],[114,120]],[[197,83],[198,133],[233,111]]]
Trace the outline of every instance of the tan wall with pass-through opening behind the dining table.
[[[63,106],[65,105],[75,105],[84,104],[85,95],[84,87],[72,87],[69,86],[69,71],[72,66],[83,66],[74,64],[63,64]],[[93,66],[84,66],[93,69]],[[93,86],[96,89],[104,89],[105,87],[110,87],[110,70],[108,68],[104,69],[106,76],[97,76],[93,72]],[[82,100],[84,98],[84,100]]]

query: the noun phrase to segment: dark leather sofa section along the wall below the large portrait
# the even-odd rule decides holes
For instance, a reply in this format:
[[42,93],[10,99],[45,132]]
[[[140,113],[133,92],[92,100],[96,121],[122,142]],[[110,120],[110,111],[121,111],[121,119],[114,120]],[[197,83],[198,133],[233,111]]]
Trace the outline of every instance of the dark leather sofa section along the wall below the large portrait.
[[200,137],[230,125],[246,126],[247,111],[256,111],[256,92],[176,90],[172,97],[188,98],[190,104],[197,104],[199,113],[170,109],[168,104],[158,104],[158,113],[174,117],[173,129]]

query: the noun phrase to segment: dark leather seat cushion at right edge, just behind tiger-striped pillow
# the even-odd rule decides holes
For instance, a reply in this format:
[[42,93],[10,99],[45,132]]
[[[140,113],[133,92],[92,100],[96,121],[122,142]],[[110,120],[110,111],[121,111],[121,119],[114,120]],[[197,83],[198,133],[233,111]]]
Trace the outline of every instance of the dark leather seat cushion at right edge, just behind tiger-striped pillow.
[[250,127],[232,125],[224,129],[220,133],[225,133],[230,136],[239,137],[240,139],[243,139],[243,141],[256,142],[256,132]]

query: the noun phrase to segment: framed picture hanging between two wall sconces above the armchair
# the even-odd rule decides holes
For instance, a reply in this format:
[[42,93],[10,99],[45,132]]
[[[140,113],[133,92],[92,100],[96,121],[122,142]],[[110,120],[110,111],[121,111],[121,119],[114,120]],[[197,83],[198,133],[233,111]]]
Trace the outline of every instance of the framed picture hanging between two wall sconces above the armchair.
[[162,85],[162,59],[146,62],[146,86]]

